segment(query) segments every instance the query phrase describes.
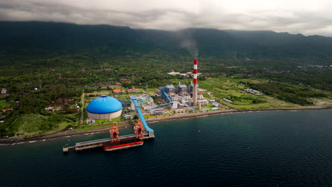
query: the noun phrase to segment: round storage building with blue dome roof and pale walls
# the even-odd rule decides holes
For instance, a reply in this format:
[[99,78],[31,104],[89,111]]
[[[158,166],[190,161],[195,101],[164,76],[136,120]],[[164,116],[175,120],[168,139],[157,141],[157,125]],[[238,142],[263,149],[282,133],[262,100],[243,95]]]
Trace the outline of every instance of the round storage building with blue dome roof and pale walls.
[[87,106],[88,118],[93,120],[111,120],[122,113],[122,104],[116,98],[100,96]]

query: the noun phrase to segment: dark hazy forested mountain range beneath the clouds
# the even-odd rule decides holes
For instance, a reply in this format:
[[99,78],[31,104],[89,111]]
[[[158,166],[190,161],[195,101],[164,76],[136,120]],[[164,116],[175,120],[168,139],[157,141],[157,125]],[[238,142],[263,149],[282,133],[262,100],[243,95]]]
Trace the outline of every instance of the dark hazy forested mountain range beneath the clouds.
[[[192,46],[188,46],[192,45]],[[71,23],[0,22],[0,56],[54,57],[137,55],[164,51],[201,57],[319,58],[332,55],[332,38],[273,31],[188,28],[178,31],[143,30],[120,26],[80,26]]]

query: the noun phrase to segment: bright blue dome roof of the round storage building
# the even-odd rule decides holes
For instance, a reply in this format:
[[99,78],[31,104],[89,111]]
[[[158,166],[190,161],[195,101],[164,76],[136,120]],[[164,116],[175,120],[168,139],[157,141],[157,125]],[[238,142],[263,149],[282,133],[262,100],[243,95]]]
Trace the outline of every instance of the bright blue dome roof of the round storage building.
[[100,96],[92,100],[87,106],[89,113],[114,113],[122,109],[122,104],[116,98]]

